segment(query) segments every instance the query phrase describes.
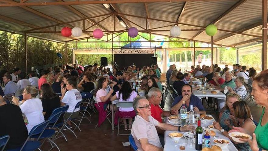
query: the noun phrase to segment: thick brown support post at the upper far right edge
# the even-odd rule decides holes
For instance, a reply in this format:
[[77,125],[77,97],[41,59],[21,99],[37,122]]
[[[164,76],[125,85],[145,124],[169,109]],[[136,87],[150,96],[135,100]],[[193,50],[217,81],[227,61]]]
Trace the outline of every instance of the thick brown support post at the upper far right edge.
[[262,49],[263,70],[267,68],[267,0],[263,0],[263,49]]

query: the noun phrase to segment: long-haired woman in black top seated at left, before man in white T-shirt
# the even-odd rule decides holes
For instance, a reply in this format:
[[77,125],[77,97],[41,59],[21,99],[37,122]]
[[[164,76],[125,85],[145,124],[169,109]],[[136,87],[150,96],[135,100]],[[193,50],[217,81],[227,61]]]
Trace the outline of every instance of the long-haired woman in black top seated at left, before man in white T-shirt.
[[47,83],[41,86],[42,90],[42,106],[43,106],[43,115],[45,120],[48,120],[52,111],[55,108],[61,106],[60,98],[56,95],[51,86]]

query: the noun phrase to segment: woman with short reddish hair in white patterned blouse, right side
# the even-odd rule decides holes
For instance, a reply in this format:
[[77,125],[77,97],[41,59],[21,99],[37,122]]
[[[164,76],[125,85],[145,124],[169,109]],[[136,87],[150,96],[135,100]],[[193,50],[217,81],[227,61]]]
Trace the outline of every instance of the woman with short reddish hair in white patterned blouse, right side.
[[234,82],[235,82],[235,87],[234,89],[232,89],[231,87],[228,87],[229,92],[234,92],[240,96],[241,100],[245,100],[247,96],[247,89],[243,85],[245,82],[244,78],[237,77]]

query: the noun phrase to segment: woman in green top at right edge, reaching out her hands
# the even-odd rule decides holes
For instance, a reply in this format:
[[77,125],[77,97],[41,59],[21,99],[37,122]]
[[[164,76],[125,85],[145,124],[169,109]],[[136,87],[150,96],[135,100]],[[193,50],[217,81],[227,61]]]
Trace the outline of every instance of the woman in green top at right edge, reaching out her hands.
[[[254,77],[252,88],[251,95],[254,96],[256,104],[263,106],[263,111],[252,140],[241,140],[249,142],[252,151],[268,151],[268,70],[264,70]],[[243,128],[233,128],[229,133],[234,131],[247,133]]]

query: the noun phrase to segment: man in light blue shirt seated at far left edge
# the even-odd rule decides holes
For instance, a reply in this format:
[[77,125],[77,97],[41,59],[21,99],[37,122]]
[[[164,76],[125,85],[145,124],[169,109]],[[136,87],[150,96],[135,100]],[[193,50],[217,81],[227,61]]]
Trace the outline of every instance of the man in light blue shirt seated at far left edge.
[[10,74],[5,75],[3,77],[3,81],[6,84],[4,91],[5,95],[16,93],[16,91],[19,90],[18,85],[12,81],[12,77]]

